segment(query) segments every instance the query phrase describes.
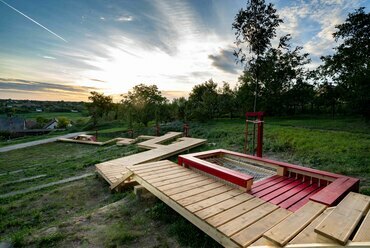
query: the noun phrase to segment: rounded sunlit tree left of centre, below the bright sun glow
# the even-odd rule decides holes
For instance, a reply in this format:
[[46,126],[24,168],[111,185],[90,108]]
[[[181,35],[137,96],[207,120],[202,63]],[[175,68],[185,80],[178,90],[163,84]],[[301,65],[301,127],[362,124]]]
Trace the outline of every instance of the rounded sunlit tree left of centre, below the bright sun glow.
[[122,103],[129,111],[130,119],[146,127],[151,120],[156,120],[157,124],[161,121],[161,105],[166,103],[167,99],[161,95],[156,85],[139,84],[122,96]]

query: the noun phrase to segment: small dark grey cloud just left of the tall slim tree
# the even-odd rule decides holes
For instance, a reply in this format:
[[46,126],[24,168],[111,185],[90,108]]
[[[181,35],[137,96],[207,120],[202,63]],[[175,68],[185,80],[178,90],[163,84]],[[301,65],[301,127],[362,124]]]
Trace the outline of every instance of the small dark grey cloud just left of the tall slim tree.
[[235,64],[234,50],[221,49],[216,55],[208,55],[208,58],[212,60],[212,65],[217,69],[232,74],[238,73],[238,67]]

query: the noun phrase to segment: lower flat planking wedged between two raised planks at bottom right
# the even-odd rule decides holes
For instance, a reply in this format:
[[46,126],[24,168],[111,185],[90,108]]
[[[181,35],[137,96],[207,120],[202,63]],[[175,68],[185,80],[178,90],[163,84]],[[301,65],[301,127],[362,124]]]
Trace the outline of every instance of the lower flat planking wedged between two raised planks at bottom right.
[[332,239],[329,239],[321,234],[315,232],[315,227],[320,224],[333,209],[326,209],[320,216],[318,216],[311,224],[309,224],[302,232],[293,238],[289,244],[334,244],[339,245]]

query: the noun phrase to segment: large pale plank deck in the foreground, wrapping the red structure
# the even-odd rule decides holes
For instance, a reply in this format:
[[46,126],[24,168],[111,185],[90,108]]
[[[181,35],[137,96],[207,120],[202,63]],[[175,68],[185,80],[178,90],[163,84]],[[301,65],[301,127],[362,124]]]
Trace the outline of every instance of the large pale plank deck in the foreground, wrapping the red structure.
[[225,247],[370,247],[370,197],[291,212],[168,160],[127,167],[131,177]]

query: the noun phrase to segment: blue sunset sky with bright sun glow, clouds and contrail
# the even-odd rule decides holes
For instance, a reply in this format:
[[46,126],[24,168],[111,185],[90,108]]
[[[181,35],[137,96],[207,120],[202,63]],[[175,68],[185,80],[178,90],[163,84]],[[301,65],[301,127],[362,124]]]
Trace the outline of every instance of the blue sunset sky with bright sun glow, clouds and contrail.
[[[278,35],[315,68],[337,46],[334,26],[368,0],[274,0]],[[234,86],[231,24],[246,0],[0,0],[0,98],[87,100],[139,83],[168,98],[212,78]],[[116,100],[119,98],[117,97]]]

